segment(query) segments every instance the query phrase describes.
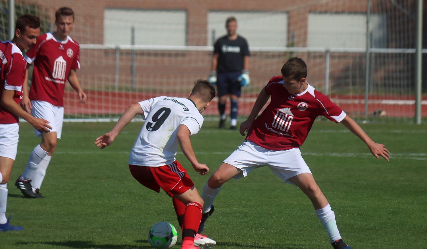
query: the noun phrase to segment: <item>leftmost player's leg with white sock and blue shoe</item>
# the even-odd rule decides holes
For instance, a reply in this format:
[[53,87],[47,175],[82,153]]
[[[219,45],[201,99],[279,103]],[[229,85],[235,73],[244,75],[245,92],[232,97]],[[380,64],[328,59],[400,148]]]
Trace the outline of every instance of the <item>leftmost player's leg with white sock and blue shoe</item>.
[[6,219],[7,182],[14,162],[12,158],[0,156],[0,232],[23,230],[20,226],[10,225]]

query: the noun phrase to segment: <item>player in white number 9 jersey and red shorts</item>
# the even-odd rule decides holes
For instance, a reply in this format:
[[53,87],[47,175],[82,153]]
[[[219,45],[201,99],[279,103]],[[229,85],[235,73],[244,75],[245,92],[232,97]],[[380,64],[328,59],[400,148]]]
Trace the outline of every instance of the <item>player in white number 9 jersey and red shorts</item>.
[[116,136],[137,114],[145,120],[129,155],[132,176],[142,185],[156,192],[163,189],[172,197],[173,206],[182,229],[182,248],[211,248],[216,244],[206,235],[197,233],[202,217],[203,200],[187,174],[175,160],[177,145],[201,175],[208,166],[199,163],[190,136],[199,132],[202,113],[215,97],[211,83],[198,80],[188,98],[160,96],[132,104],[113,129],[96,139],[97,147],[111,145]]

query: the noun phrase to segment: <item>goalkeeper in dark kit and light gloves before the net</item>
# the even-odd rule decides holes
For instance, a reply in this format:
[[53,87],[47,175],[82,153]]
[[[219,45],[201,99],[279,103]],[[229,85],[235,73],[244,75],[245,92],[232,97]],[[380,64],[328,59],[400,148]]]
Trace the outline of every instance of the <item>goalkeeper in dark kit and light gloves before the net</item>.
[[249,86],[249,46],[246,39],[237,35],[237,20],[228,17],[225,22],[227,35],[219,38],[214,45],[212,70],[208,81],[216,84],[218,92],[219,128],[225,128],[225,104],[230,95],[230,129],[237,130],[237,102],[241,87]]

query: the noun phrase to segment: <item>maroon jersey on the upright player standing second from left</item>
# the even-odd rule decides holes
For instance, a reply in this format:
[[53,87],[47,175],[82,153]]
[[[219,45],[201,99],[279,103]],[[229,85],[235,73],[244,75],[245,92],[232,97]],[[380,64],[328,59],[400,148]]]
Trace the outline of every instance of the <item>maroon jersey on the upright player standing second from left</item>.
[[69,36],[57,41],[52,33],[41,35],[25,60],[34,63],[29,99],[64,106],[64,88],[70,69],[80,68],[80,46]]

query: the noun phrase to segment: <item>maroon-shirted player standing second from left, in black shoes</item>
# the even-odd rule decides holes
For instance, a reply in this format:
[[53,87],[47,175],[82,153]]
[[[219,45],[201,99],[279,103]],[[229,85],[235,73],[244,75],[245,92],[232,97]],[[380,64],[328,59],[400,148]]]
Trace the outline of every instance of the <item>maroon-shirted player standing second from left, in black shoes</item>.
[[39,189],[57,140],[61,138],[66,81],[77,92],[80,103],[85,103],[87,98],[76,73],[80,68],[80,46],[68,36],[74,25],[74,12],[62,7],[55,17],[56,32],[39,36],[25,55],[27,63],[34,64],[34,71],[29,96],[26,84],[23,86],[21,106],[33,116],[49,120],[52,126],[49,133],[35,130],[35,135],[41,136],[41,143],[35,146],[25,171],[15,182],[28,198],[42,198]]

